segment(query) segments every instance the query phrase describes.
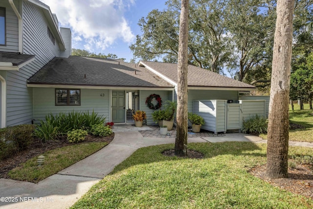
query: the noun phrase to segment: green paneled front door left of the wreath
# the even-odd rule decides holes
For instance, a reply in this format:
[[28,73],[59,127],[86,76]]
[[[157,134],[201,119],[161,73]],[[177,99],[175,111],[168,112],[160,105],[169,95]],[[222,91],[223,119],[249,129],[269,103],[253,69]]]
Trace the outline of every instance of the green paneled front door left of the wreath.
[[112,91],[112,121],[124,123],[125,115],[125,92]]

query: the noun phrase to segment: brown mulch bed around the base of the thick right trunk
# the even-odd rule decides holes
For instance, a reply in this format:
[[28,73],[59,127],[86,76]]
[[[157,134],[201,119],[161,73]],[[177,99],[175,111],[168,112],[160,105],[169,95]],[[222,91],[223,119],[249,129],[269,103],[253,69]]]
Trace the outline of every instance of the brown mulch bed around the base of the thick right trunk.
[[295,168],[288,168],[288,178],[281,179],[268,178],[266,164],[252,168],[249,173],[273,186],[313,199],[313,170],[311,165],[298,164]]

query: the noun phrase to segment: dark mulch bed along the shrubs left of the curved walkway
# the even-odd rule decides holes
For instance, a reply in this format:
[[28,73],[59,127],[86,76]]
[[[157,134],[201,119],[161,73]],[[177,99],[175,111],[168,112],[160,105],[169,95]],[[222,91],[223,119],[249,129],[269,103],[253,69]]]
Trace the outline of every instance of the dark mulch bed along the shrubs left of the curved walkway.
[[[109,137],[95,137],[92,135],[88,135],[84,141],[86,142],[108,142],[110,143],[114,139],[114,134]],[[56,149],[59,147],[64,147],[68,145],[72,145],[73,143],[69,143],[66,138],[60,138],[58,140],[48,141],[46,143],[42,143],[41,140],[35,139],[31,144],[31,149],[24,150],[18,153],[15,156],[11,156],[9,158],[3,159],[0,161],[0,178],[9,179],[8,172],[13,168],[17,167],[19,164],[28,161],[29,159],[39,156],[46,151]]]

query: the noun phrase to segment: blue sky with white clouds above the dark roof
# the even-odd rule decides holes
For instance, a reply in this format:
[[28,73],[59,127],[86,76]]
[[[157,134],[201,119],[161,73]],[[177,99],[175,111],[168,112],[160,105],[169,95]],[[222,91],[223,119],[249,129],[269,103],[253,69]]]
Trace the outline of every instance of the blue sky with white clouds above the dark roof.
[[41,0],[57,15],[59,26],[70,27],[72,47],[126,58],[129,46],[141,34],[137,25],[153,9],[163,10],[166,0]]

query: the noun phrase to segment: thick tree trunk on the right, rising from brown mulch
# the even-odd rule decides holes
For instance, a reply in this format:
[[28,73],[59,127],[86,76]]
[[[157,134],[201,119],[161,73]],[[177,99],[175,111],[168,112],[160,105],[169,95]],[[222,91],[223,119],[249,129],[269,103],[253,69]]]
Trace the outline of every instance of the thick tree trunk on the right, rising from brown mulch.
[[288,177],[289,88],[294,0],[277,0],[268,116],[267,176]]

